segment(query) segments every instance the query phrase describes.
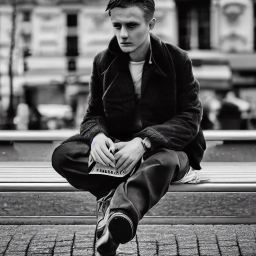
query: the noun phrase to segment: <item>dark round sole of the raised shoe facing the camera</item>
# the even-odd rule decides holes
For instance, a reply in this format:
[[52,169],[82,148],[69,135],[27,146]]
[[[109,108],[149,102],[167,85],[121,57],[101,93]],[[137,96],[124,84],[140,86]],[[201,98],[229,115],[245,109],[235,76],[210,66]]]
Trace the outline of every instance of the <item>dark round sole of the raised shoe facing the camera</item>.
[[108,222],[108,229],[115,243],[126,243],[133,236],[133,224],[125,214],[113,213]]

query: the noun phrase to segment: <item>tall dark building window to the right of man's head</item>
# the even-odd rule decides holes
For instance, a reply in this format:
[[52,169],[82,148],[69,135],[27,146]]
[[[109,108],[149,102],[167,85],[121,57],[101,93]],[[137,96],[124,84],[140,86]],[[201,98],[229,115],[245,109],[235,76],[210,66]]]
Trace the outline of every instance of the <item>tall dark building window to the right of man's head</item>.
[[189,49],[210,48],[210,2],[176,0],[178,14],[179,47]]

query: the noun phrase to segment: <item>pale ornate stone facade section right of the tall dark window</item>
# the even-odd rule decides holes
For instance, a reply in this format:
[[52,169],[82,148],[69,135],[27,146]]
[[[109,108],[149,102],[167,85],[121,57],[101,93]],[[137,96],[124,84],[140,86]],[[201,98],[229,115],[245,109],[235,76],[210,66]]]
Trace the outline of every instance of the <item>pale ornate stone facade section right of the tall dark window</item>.
[[212,1],[212,45],[224,52],[253,52],[252,0]]

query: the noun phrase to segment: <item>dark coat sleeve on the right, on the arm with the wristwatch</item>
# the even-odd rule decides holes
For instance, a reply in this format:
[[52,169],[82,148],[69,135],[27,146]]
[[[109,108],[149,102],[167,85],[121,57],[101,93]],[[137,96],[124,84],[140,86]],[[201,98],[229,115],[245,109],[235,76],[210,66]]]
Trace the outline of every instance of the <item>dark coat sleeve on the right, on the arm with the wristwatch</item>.
[[187,53],[181,70],[182,78],[176,84],[176,114],[162,124],[148,126],[133,134],[133,137],[149,137],[153,148],[181,150],[199,131],[202,117],[202,106],[198,96],[199,83],[193,76],[192,63]]

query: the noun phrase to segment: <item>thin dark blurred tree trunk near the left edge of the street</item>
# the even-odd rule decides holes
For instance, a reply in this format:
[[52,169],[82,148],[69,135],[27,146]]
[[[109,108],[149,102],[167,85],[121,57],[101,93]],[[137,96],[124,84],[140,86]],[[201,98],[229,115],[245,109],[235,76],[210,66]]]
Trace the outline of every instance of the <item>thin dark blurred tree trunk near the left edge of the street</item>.
[[16,32],[16,13],[17,13],[17,0],[9,0],[12,6],[11,13],[11,42],[9,51],[9,65],[8,65],[8,75],[10,82],[10,94],[9,94],[9,106],[7,108],[7,124],[6,129],[14,129],[13,118],[14,118],[14,107],[13,107],[13,70],[12,70],[12,60],[13,60],[13,49],[15,46],[15,32]]

